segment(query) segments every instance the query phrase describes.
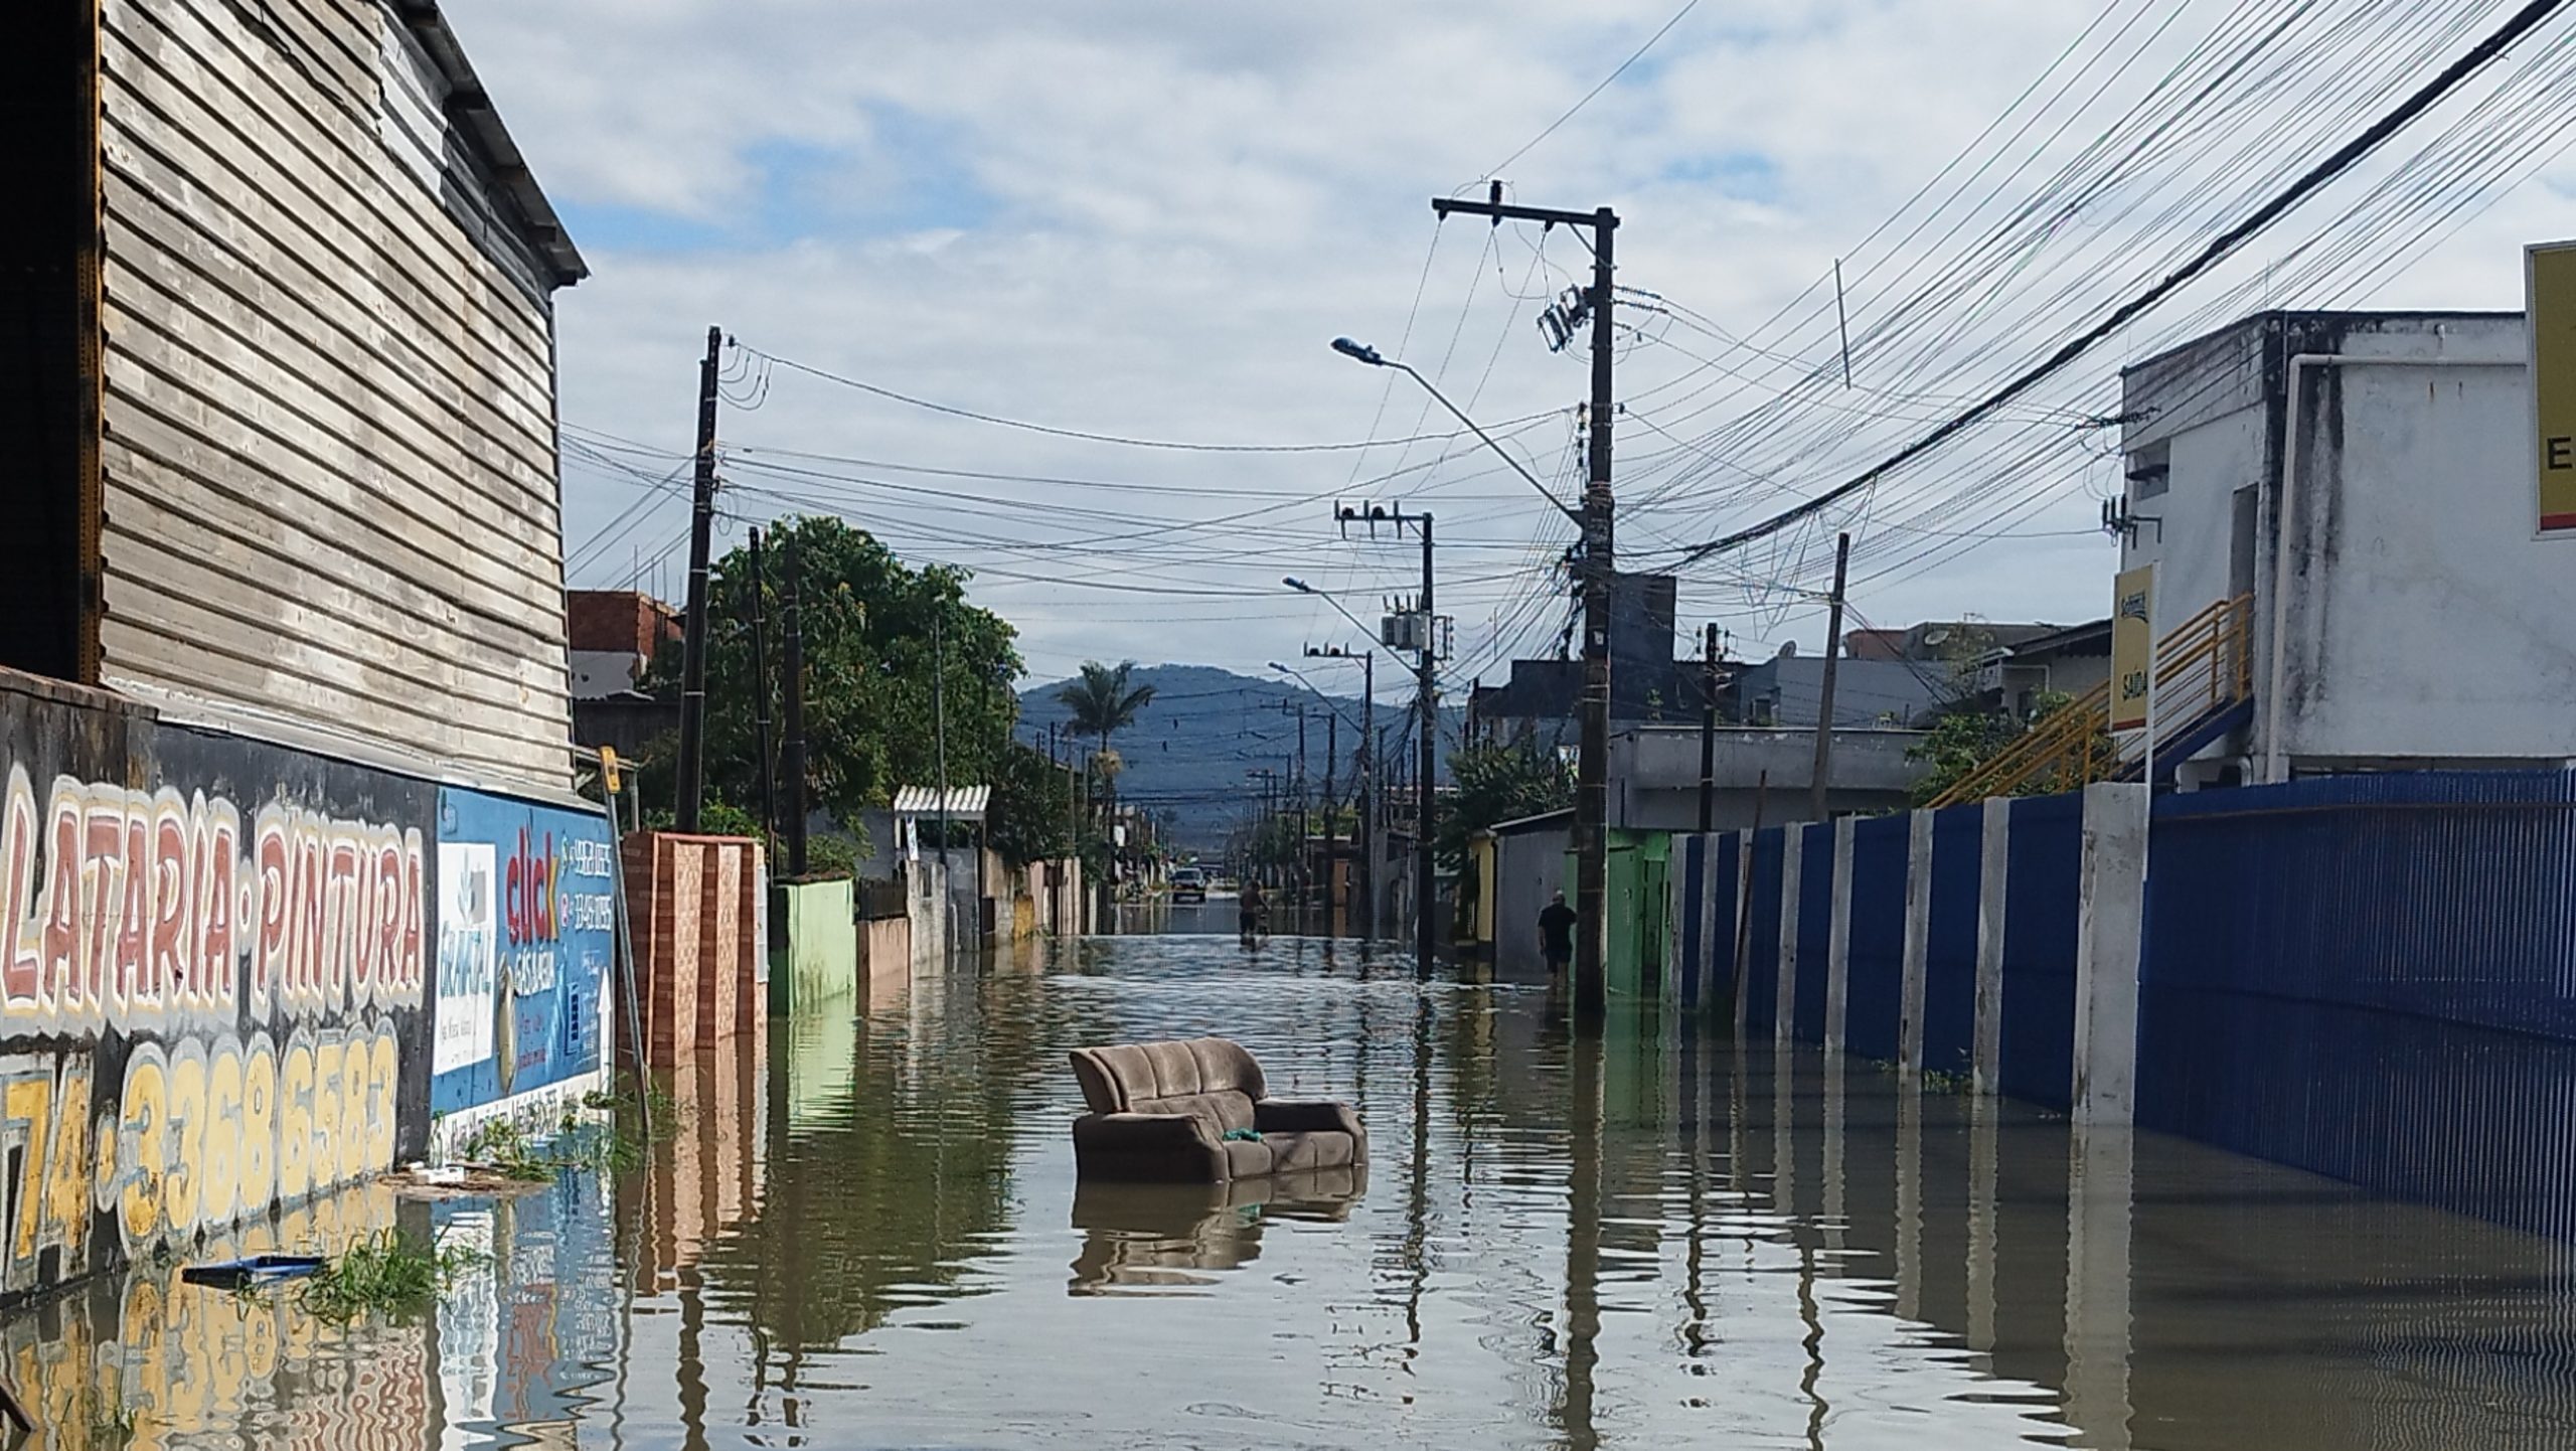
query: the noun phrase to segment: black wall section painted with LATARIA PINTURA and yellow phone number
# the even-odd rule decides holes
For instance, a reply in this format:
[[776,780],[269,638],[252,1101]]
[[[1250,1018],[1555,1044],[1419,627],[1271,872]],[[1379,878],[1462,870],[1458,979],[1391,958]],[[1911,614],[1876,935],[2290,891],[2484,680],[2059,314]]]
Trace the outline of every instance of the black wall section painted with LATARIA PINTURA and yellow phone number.
[[435,794],[0,693],[0,1296],[425,1144]]

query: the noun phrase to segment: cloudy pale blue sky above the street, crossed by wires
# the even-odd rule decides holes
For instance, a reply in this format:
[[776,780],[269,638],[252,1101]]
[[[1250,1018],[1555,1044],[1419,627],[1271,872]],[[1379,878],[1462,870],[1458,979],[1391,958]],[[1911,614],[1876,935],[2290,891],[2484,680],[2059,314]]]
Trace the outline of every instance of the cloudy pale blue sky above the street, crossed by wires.
[[[2509,10],[443,8],[592,265],[559,294],[569,582],[680,593],[716,325],[719,552],[770,515],[840,513],[969,567],[1030,680],[1123,657],[1267,673],[1355,644],[1334,603],[1373,621],[1419,588],[1419,544],[1345,531],[1337,503],[1432,513],[1453,675],[1558,649],[1571,526],[1409,379],[1329,351],[1352,335],[1412,361],[1577,495],[1589,356],[1551,351],[1538,314],[1587,278],[1587,242],[1443,224],[1432,196],[1502,178],[1520,204],[1618,209],[1620,562],[1674,567],[2050,351]],[[2566,23],[2524,41],[1953,448],[1690,562],[1677,649],[1705,621],[1736,655],[1814,649],[1837,531],[1847,626],[2102,616],[2120,363],[2257,307],[2519,307],[2522,242],[2576,232],[2576,101],[2543,93],[2568,90],[2571,44]]]

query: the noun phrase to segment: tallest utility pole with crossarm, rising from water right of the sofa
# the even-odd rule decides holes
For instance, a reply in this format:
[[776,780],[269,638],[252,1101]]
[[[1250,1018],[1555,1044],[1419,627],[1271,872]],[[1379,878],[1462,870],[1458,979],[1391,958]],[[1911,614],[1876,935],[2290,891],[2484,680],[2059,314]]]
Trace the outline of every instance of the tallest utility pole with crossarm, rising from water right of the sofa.
[[[1610,420],[1618,412],[1613,394],[1613,327],[1618,214],[1607,206],[1595,211],[1553,211],[1546,206],[1510,206],[1502,201],[1502,183],[1494,183],[1489,201],[1432,198],[1432,211],[1448,216],[1463,211],[1504,219],[1538,222],[1543,227],[1587,227],[1592,232],[1592,407],[1589,407],[1589,477],[1579,513],[1584,539],[1584,714],[1582,755],[1574,768],[1574,1010],[1597,1018],[1610,1005],[1610,595],[1618,585],[1618,554],[1613,536],[1610,495]],[[1427,727],[1425,727],[1427,729]]]

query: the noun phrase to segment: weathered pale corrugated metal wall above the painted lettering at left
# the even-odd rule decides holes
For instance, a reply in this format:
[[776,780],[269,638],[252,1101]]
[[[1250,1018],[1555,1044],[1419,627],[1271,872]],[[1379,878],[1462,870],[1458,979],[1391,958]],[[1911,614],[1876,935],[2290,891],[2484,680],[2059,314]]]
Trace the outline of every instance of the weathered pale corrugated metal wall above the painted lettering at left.
[[103,5],[106,680],[562,783],[546,289],[410,31],[247,13]]

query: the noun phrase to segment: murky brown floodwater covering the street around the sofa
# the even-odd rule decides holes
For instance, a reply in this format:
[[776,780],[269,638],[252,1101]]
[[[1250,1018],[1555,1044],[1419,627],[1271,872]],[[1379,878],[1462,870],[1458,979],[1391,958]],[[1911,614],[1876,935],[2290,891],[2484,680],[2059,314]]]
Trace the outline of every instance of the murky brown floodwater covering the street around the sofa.
[[[1365,1186],[1077,1191],[1064,1049],[1206,1031],[1355,1100]],[[15,1314],[39,1443],[2576,1443],[2558,1245],[1352,943],[1036,948],[670,1088],[649,1168],[245,1237],[484,1250],[417,1325],[170,1265]]]

